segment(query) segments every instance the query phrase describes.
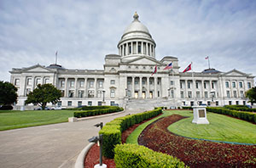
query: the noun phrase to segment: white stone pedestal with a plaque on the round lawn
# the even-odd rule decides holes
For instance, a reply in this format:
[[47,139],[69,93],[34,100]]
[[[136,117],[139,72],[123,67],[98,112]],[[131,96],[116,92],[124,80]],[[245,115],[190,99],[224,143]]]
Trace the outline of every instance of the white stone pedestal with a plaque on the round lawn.
[[194,119],[192,123],[195,124],[209,124],[207,120],[207,106],[193,106]]

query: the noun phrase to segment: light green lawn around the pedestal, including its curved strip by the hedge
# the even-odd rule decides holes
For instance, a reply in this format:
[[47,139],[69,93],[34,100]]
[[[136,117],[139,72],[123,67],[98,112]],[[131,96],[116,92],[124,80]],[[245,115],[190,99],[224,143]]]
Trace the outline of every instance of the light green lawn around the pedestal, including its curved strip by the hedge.
[[[179,120],[168,127],[170,132],[177,135],[234,143],[256,143],[256,125],[247,121],[237,120],[225,115],[207,113],[207,120],[209,120],[210,124],[196,125],[192,124],[192,111],[185,110],[164,111],[164,114],[158,118],[172,114],[189,116],[189,118]],[[154,120],[149,120],[138,126],[127,138],[126,143],[137,143],[139,134]]]

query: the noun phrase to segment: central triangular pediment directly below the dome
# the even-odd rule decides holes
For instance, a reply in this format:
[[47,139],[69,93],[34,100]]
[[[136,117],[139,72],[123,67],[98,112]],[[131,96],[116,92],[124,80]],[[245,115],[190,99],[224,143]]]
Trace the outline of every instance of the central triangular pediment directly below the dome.
[[163,65],[160,61],[149,58],[149,57],[139,57],[137,59],[131,59],[130,61],[126,62],[126,64],[138,64],[138,65],[155,65],[155,64],[160,64]]

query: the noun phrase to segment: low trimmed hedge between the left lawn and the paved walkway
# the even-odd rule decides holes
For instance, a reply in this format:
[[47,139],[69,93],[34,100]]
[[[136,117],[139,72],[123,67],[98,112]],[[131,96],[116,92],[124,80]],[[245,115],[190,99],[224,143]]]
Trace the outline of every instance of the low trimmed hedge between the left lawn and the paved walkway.
[[109,113],[124,110],[123,108],[120,108],[117,106],[103,106],[103,107],[108,107],[108,109],[106,108],[105,109],[88,109],[88,110],[82,110],[82,111],[75,111],[73,112],[73,116],[77,118],[81,118],[81,117],[94,116],[94,115],[104,115],[104,114],[109,114]]

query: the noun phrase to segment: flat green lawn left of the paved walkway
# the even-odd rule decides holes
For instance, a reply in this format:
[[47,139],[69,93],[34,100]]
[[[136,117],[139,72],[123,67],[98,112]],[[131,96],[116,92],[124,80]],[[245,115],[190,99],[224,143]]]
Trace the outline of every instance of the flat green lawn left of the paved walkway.
[[0,131],[67,122],[72,116],[73,110],[3,110],[0,111]]

